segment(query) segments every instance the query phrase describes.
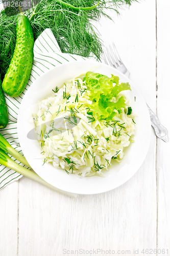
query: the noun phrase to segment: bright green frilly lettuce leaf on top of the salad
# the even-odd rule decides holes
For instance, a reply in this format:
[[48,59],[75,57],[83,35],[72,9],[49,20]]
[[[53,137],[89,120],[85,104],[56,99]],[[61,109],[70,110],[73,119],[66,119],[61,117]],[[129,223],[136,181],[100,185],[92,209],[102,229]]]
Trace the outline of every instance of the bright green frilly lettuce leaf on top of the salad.
[[90,90],[90,100],[93,101],[91,109],[101,119],[107,121],[112,120],[116,115],[116,111],[121,113],[121,108],[125,108],[124,97],[120,97],[117,102],[113,102],[113,97],[116,97],[119,92],[131,90],[128,82],[119,84],[119,77],[108,76],[87,72],[84,77],[87,88]]

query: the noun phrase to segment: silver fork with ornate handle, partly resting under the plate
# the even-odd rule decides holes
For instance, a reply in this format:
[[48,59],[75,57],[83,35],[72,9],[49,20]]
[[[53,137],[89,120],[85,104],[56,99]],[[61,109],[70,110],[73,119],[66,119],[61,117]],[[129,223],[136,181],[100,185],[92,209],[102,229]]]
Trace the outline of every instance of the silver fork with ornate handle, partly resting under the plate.
[[[109,48],[105,47],[103,49],[103,59],[107,65],[112,66],[113,68],[119,70],[127,77],[129,77],[130,72],[127,70],[122,59],[120,58],[114,43],[112,43],[112,46],[109,45]],[[163,141],[167,142],[168,135],[166,128],[160,123],[158,117],[153,113],[148,104],[147,106],[150,113],[151,125],[155,130],[156,136],[162,139]]]

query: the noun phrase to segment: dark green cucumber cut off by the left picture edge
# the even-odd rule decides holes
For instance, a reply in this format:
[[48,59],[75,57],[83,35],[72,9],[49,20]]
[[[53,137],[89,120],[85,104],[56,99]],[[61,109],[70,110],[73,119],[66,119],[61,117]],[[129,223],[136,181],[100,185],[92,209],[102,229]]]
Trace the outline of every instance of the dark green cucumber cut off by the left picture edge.
[[3,129],[7,126],[8,124],[8,108],[6,105],[6,100],[4,96],[4,92],[2,89],[2,82],[0,78],[0,129]]

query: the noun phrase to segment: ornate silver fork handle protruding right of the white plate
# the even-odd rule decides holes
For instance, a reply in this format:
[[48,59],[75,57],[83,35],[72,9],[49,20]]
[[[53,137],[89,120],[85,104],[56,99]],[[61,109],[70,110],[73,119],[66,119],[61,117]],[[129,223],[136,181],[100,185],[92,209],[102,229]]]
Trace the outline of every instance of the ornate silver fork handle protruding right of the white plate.
[[168,142],[168,135],[167,135],[167,130],[166,128],[160,123],[159,119],[157,116],[154,114],[154,112],[150,109],[149,105],[148,110],[150,113],[150,118],[151,118],[151,125],[153,126],[155,130],[155,134],[158,138],[162,139],[165,142]]

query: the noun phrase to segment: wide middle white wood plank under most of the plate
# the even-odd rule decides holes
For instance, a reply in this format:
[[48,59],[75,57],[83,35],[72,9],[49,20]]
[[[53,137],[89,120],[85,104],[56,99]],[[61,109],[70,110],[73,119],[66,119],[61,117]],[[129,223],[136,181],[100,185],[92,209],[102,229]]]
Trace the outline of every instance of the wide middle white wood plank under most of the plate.
[[[104,23],[105,18],[102,26],[97,24],[102,38],[115,42],[132,81],[155,111],[155,1],[133,4],[122,11],[122,19],[112,15],[115,24]],[[142,255],[143,248],[156,248],[155,156],[152,132],[148,156],[130,181],[108,193],[79,196],[78,200],[22,178],[18,256],[69,255],[63,254],[64,248],[131,250],[131,255],[133,249],[139,249],[138,255]]]

